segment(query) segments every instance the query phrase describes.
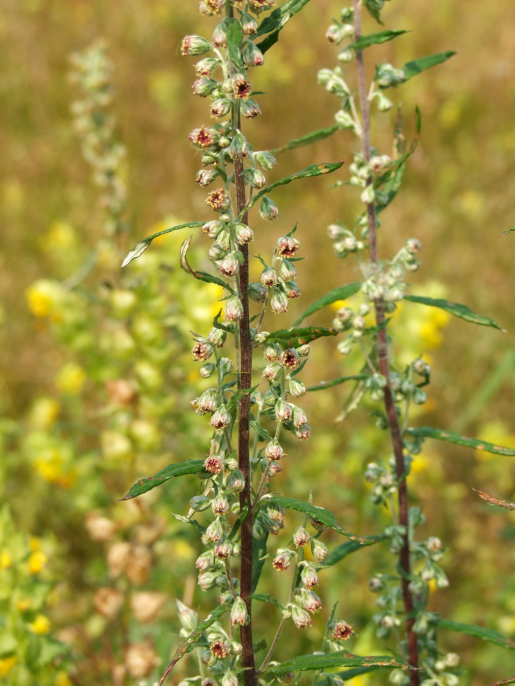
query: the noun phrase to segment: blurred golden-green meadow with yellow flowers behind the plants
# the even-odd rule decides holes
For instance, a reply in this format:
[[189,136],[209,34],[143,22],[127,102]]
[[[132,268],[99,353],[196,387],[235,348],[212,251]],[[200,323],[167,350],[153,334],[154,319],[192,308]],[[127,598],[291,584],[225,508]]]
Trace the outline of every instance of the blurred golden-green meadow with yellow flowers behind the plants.
[[[150,646],[162,664],[179,640],[173,599],[201,606],[201,612],[214,600],[207,601],[201,591],[194,594],[196,536],[170,514],[172,508],[184,514],[187,499],[194,495],[194,480],[169,482],[154,490],[141,508],[114,501],[124,495],[134,475],[150,475],[174,460],[203,457],[205,422],[191,416],[189,401],[205,386],[188,354],[187,331],[207,332],[218,309],[216,293],[190,284],[188,277],[177,273],[178,239],[170,237],[152,246],[147,261],[131,272],[135,282],[139,279],[139,324],[124,319],[125,305],[113,305],[111,300],[114,314],[107,315],[102,307],[88,314],[91,331],[101,328],[98,318],[113,316],[113,321],[125,322],[123,327],[136,341],[135,348],[129,345],[128,353],[119,353],[115,362],[108,359],[108,342],[104,357],[95,357],[91,331],[87,344],[73,342],[71,334],[67,340],[56,336],[60,315],[52,320],[44,298],[27,301],[26,295],[38,280],[62,280],[73,273],[102,237],[98,189],[71,125],[69,106],[78,93],[68,78],[71,52],[96,38],[106,40],[114,64],[112,111],[119,123],[117,136],[127,147],[124,178],[130,232],[124,248],[169,222],[211,218],[205,191],[194,183],[200,161],[187,143],[190,130],[209,121],[206,101],[192,95],[194,60],[178,55],[184,34],[209,35],[214,26],[214,20],[198,17],[196,4],[191,0],[0,1],[0,493],[10,506],[18,535],[32,536],[26,542],[32,554],[41,551],[47,560],[40,556],[38,564],[32,558],[30,583],[39,574],[54,584],[41,610],[49,624],[41,626],[41,620],[34,624],[39,615],[31,615],[27,622],[32,623],[33,634],[52,635],[69,646],[65,657],[45,667],[48,681],[30,676],[30,661],[28,671],[16,676],[15,663],[0,658],[0,681],[5,678],[6,683],[136,683],[137,670],[129,668],[124,677],[117,651],[133,643]],[[262,117],[245,124],[255,150],[277,147],[332,124],[337,103],[317,86],[316,76],[321,67],[334,65],[335,51],[323,34],[330,14],[337,16],[339,9],[339,3],[328,0],[308,3],[266,54],[264,67],[253,73],[255,90],[267,93],[260,97]],[[415,57],[447,49],[458,54],[394,93],[401,98],[408,137],[413,134],[413,110],[420,106],[422,137],[400,195],[383,218],[382,255],[396,252],[408,237],[419,237],[424,244],[422,268],[411,276],[411,283],[421,293],[467,303],[507,329],[500,333],[435,317],[418,306],[403,307],[396,324],[399,342],[413,357],[426,353],[434,369],[424,414],[419,411],[413,421],[515,447],[515,238],[497,238],[515,223],[515,8],[512,0],[392,0],[384,18],[387,27],[410,33],[369,49],[369,67],[382,58],[400,67]],[[366,31],[374,30],[376,25],[368,21]],[[374,126],[376,144],[381,152],[389,152],[393,115],[376,117]],[[314,162],[341,160],[345,166],[337,174],[345,178],[353,145],[350,134],[343,132],[314,147],[282,153],[269,178]],[[275,196],[280,211],[276,222],[269,225],[258,219],[253,226],[257,253],[269,251],[275,237],[299,222],[297,236],[308,259],[299,263],[302,298],[291,307],[292,315],[328,290],[356,280],[356,265],[336,259],[325,235],[330,222],[352,221],[358,211],[356,193],[345,187],[331,190],[329,185],[327,178],[320,178],[280,189]],[[196,238],[198,262],[207,246],[206,239]],[[159,272],[162,261],[168,270],[161,270],[161,285],[156,285],[152,274]],[[258,274],[256,267],[254,278]],[[90,274],[81,288],[104,293],[108,300],[111,296],[106,292],[121,288],[118,279],[119,272],[110,263]],[[145,291],[147,281],[153,283],[150,290],[161,289],[159,307],[155,293]],[[130,290],[130,285],[124,289]],[[78,311],[90,307],[86,296],[78,298],[68,307]],[[158,347],[164,345],[165,334],[159,327],[167,302],[172,303],[174,320],[166,326],[174,338],[168,353],[157,359],[151,349],[155,341]],[[150,303],[148,308],[145,303]],[[270,318],[265,329],[290,325],[293,317],[288,320],[288,316]],[[330,311],[321,311],[311,323],[328,326],[331,319]],[[80,326],[87,329],[84,322]],[[149,334],[152,326],[159,330]],[[334,347],[332,340],[312,346],[305,381],[354,371]],[[136,420],[125,420],[126,411],[120,410],[118,416],[109,405],[112,392],[108,397],[103,389],[109,379],[133,378],[131,355],[139,355],[140,363],[150,359],[162,378],[149,381],[148,368],[140,364],[135,388],[148,402],[146,409],[140,403],[131,410]],[[141,390],[141,384],[147,390]],[[276,483],[286,495],[302,499],[307,499],[311,488],[314,502],[332,508],[346,528],[371,534],[387,520],[369,503],[362,475],[369,460],[387,453],[366,408],[334,425],[345,393],[339,386],[308,394],[304,407],[314,429],[312,439],[300,447],[290,446]],[[167,394],[173,394],[170,405],[166,405]],[[170,411],[173,421],[167,423],[163,417]],[[114,429],[103,424],[107,415],[118,417]],[[106,454],[113,445],[106,431],[126,440],[116,455]],[[510,636],[515,636],[515,517],[488,508],[471,489],[510,499],[515,495],[514,468],[513,458],[426,442],[409,477],[413,501],[426,512],[424,532],[440,536],[449,547],[444,569],[450,587],[435,591],[430,608]],[[89,530],[84,526],[88,515]],[[97,540],[91,540],[96,515],[115,522],[103,543],[98,532]],[[295,514],[288,515],[288,531],[296,523]],[[155,539],[153,534],[145,539],[141,533],[145,526],[155,528]],[[7,538],[4,535],[5,546]],[[287,538],[288,534],[280,537]],[[329,534],[324,540],[339,543]],[[128,580],[113,580],[111,567],[108,576],[105,552],[113,541],[130,542],[140,552],[153,546],[146,576],[133,572]],[[8,569],[8,558],[4,563]],[[371,571],[388,571],[389,564],[387,550],[373,547],[346,558],[322,580],[323,612],[339,601],[339,615],[352,622],[358,634],[350,646],[354,652],[385,650],[369,624],[375,597],[367,590],[367,579]],[[130,572],[124,573],[130,577]],[[286,580],[271,569],[266,577],[262,589],[280,600]],[[159,618],[156,612],[137,624],[130,614],[132,607],[137,615],[135,604],[129,602],[123,616],[115,613],[110,619],[105,608],[104,614],[99,612],[102,607],[98,597],[93,606],[93,594],[115,584],[126,598],[143,591],[164,593],[160,600],[153,596],[161,608]],[[5,593],[1,602],[6,607]],[[259,609],[264,612],[262,606]],[[262,616],[257,639],[260,632],[268,635],[271,623],[278,621],[273,612]],[[122,620],[124,629],[117,638]],[[316,649],[321,626],[323,618],[308,632],[292,628],[282,643],[281,657],[312,650],[310,642]],[[464,684],[480,686],[515,671],[515,659],[507,650],[448,632],[441,632],[440,641],[446,650],[461,654],[467,667]],[[117,664],[119,670],[113,672]],[[171,683],[184,676],[187,665],[179,667]],[[379,670],[352,683],[365,686],[386,680],[387,672]]]

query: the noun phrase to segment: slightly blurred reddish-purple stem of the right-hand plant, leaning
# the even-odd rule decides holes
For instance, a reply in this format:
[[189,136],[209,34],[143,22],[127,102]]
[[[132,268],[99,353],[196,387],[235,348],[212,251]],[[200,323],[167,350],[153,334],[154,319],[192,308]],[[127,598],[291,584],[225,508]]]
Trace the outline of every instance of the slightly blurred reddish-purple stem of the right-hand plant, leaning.
[[[361,37],[361,0],[352,0],[354,6],[354,38],[358,40]],[[361,148],[363,156],[367,161],[370,159],[370,104],[367,94],[367,81],[365,75],[365,62],[363,60],[363,51],[356,50],[356,69],[358,75],[358,93],[361,109]],[[371,183],[371,178],[367,184]],[[367,204],[367,218],[368,218],[368,240],[370,246],[370,260],[377,264],[379,261],[378,255],[378,237],[376,226],[376,213],[374,203]],[[376,309],[376,324],[380,326],[385,320],[385,304],[381,300],[375,300]],[[388,426],[391,436],[391,444],[393,447],[393,455],[396,460],[396,473],[399,480],[398,483],[398,501],[399,501],[399,523],[406,527],[406,534],[403,536],[402,548],[399,552],[399,562],[402,569],[402,598],[404,600],[404,614],[406,619],[406,632],[408,640],[408,657],[409,663],[413,667],[418,667],[418,643],[417,635],[413,631],[413,624],[415,619],[411,617],[413,611],[413,596],[409,590],[409,576],[411,573],[411,560],[409,555],[409,536],[408,536],[408,489],[406,484],[404,466],[404,449],[402,445],[402,434],[400,431],[398,416],[396,412],[395,401],[391,392],[389,382],[389,364],[388,364],[388,339],[386,329],[381,329],[378,332],[377,338],[378,348],[378,362],[380,373],[387,379],[387,385],[384,389],[385,410],[387,414]],[[410,670],[409,681],[411,686],[419,686],[420,678],[418,672]]]

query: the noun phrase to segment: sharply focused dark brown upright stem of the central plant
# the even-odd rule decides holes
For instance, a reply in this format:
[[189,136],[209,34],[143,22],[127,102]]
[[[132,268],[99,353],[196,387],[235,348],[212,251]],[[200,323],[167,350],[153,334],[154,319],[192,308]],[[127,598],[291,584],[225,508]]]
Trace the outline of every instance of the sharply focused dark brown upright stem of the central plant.
[[[232,6],[231,6],[232,10]],[[230,12],[232,13],[232,12]],[[233,128],[240,129],[240,108],[239,105],[233,106],[232,112]],[[234,159],[234,182],[236,185],[236,211],[242,212],[246,205],[245,183],[242,176],[243,164],[241,160]],[[244,224],[248,224],[247,213],[243,214]],[[243,316],[239,326],[239,348],[240,348],[240,375],[238,376],[238,389],[245,390],[251,388],[252,377],[252,342],[249,321],[249,246],[240,245],[244,261],[240,264],[238,279],[240,285],[240,297],[242,300]],[[250,431],[249,418],[251,408],[251,397],[247,393],[242,397],[238,407],[238,461],[240,470],[245,479],[245,488],[240,493],[240,510],[248,505],[247,517],[242,522],[241,527],[241,567],[240,567],[240,595],[247,606],[249,613],[249,624],[240,628],[240,640],[242,643],[242,662],[245,671],[243,672],[244,686],[255,686],[255,659],[252,643],[252,600],[249,596],[252,593],[252,547],[253,547],[253,520],[254,510],[251,499],[251,469],[250,469]]]

